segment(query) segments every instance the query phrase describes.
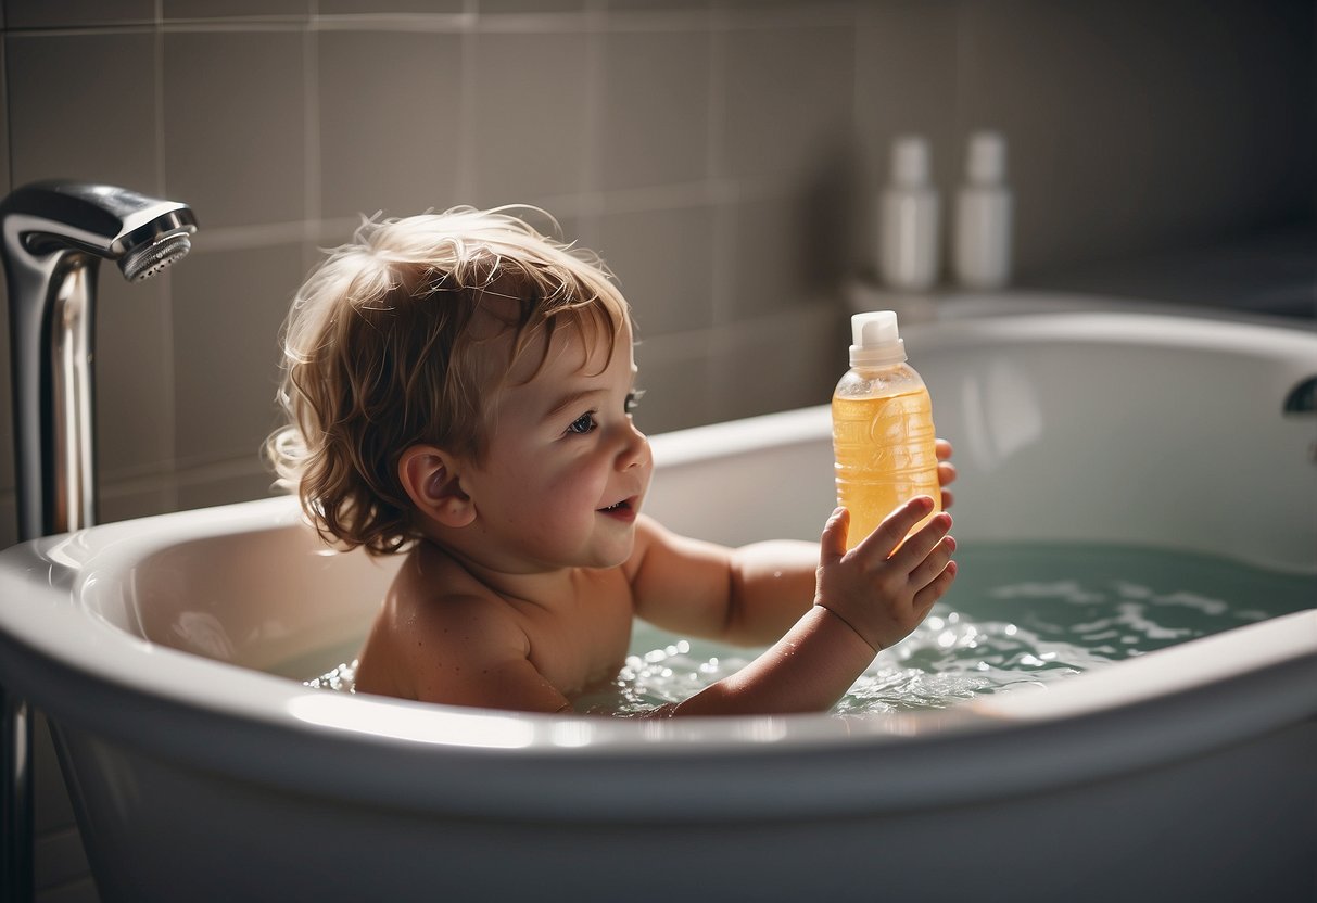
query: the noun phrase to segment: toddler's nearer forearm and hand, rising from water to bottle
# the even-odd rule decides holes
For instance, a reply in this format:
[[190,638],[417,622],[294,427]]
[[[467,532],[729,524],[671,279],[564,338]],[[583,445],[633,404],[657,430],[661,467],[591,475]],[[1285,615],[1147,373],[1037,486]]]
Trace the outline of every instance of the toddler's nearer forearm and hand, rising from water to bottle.
[[[947,536],[950,515],[938,515],[897,549],[901,537],[931,508],[932,500],[926,496],[909,502],[851,552],[846,552],[849,516],[843,508],[835,511],[823,529],[814,606],[741,671],[670,708],[669,713],[830,708],[878,652],[925,619],[955,579],[956,565],[951,561],[955,541]],[[658,561],[664,557],[660,553]],[[637,584],[637,591],[643,588],[643,583]],[[644,607],[639,613],[658,624],[665,621],[655,613],[647,615]]]

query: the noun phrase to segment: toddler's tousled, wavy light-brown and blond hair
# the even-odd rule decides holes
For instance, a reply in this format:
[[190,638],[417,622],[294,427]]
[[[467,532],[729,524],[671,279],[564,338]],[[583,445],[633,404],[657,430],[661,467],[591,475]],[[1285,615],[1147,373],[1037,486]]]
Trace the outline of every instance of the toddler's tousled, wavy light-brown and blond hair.
[[515,209],[544,215],[363,220],[294,297],[278,394],[287,424],[266,452],[327,541],[389,554],[419,538],[403,453],[435,445],[479,463],[490,400],[532,349],[539,373],[556,328],[579,330],[586,348],[605,338],[611,358],[630,317],[611,274]]

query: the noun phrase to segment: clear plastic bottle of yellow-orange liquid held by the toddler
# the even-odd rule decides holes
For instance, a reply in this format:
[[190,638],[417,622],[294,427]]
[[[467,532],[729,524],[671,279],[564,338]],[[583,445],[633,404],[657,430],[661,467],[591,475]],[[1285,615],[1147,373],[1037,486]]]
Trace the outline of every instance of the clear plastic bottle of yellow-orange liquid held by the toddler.
[[832,394],[836,502],[851,511],[847,548],[853,549],[897,505],[928,495],[942,508],[932,401],[923,379],[906,363],[893,311],[851,317],[851,370]]

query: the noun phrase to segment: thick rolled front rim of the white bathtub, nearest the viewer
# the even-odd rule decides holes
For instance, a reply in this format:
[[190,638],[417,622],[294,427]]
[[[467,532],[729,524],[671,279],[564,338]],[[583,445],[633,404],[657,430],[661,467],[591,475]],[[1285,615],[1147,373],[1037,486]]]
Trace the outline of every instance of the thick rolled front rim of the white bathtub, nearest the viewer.
[[[1243,632],[1259,640],[1258,654],[1230,658],[1222,673],[1222,650],[1237,652]],[[1317,609],[1036,691],[868,716],[507,713],[309,690],[173,649],[155,649],[151,669],[124,671],[16,646],[0,632],[4,646],[0,678],[55,725],[136,756],[357,804],[485,817],[736,820],[979,803],[1202,756],[1310,719],[1317,707]],[[138,665],[140,653],[129,652],[129,663]],[[1198,673],[1204,665],[1209,679]],[[161,687],[162,671],[178,669],[207,682],[223,677],[225,692],[199,702],[187,687]],[[1131,698],[1148,673],[1164,669],[1175,681],[1169,692]],[[1156,681],[1163,686],[1164,675]],[[392,732],[363,728],[367,712],[392,720]],[[441,731],[453,733],[436,737]],[[1113,736],[1131,741],[1113,745]],[[802,767],[811,773],[807,798],[777,792],[798,782]],[[884,781],[857,781],[874,767]],[[636,785],[655,770],[668,779]],[[344,782],[345,773],[354,781]]]

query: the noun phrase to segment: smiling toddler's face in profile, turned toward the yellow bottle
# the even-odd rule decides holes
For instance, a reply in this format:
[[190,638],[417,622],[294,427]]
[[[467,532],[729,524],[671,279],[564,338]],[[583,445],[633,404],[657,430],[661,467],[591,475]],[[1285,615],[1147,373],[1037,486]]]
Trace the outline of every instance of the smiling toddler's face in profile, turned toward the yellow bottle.
[[[499,391],[489,455],[464,480],[494,548],[527,570],[611,567],[631,554],[653,461],[631,421],[635,362],[624,326],[586,346],[554,330],[544,366],[536,349]],[[523,371],[523,373],[519,373]]]

